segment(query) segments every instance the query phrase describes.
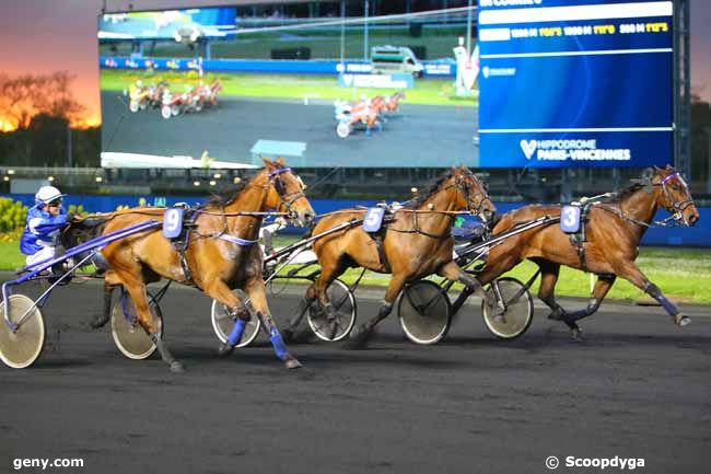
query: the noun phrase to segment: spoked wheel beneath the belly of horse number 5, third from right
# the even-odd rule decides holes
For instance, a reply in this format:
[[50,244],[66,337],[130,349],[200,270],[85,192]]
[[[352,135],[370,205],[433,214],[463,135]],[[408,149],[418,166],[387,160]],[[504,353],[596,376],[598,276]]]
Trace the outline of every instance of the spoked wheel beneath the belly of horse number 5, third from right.
[[335,315],[329,317],[314,301],[308,308],[308,325],[319,339],[335,343],[348,337],[356,324],[356,298],[348,285],[338,279],[330,284],[326,294]]

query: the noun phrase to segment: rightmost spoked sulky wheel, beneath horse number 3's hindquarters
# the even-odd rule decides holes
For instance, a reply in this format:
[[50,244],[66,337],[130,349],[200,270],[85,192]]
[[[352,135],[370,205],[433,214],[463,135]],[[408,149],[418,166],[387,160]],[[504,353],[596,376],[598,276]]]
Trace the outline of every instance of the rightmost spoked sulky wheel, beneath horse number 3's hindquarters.
[[[497,280],[503,312],[481,302],[481,314],[489,331],[501,339],[515,339],[528,330],[533,321],[533,297],[524,284],[515,278],[504,277]],[[490,285],[487,292],[494,291]],[[494,298],[497,301],[498,297]]]

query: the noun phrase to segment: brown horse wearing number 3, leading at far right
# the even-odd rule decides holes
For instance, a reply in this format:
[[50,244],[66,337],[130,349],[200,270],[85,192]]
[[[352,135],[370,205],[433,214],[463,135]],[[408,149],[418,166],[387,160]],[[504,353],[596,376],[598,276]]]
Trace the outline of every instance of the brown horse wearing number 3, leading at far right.
[[[541,270],[538,298],[552,310],[548,317],[563,321],[576,336],[580,327],[575,321],[597,311],[619,276],[657,300],[674,322],[684,326],[690,320],[634,264],[640,240],[651,227],[650,222],[658,207],[672,212],[673,219],[683,226],[693,226],[699,220],[699,212],[681,175],[671,166],[655,167],[633,186],[592,205],[587,222],[584,223],[585,239],[580,244],[582,251],[579,252],[579,245],[561,231],[560,226],[534,228],[494,246],[477,279],[481,285],[487,285],[524,258],[535,262]],[[504,232],[520,222],[543,216],[560,215],[559,206],[526,206],[504,215],[493,233]],[[584,310],[568,313],[556,302],[553,294],[561,265],[597,275],[597,282]]]

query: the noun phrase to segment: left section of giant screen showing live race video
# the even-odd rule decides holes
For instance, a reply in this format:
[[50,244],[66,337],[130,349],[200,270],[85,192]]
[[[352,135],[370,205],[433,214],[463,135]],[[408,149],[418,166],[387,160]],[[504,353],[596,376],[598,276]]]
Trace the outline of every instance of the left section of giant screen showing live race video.
[[[455,84],[454,49],[476,45],[466,9],[363,23],[350,3],[345,22],[340,2],[293,8],[307,14],[259,5],[102,18],[104,165],[479,165],[477,92]],[[193,28],[176,35],[176,19]],[[215,25],[234,34],[205,34]]]

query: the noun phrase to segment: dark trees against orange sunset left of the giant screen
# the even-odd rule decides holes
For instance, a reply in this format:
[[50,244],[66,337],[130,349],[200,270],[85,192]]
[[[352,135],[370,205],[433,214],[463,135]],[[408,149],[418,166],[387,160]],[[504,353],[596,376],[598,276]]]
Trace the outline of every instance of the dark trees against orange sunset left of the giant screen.
[[0,120],[13,128],[0,132],[0,164],[67,166],[71,140],[72,166],[100,165],[100,128],[70,128],[85,113],[71,94],[72,80],[66,71],[0,74]]

